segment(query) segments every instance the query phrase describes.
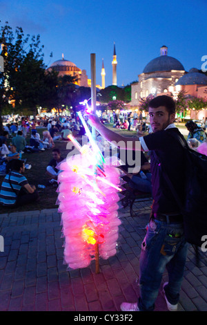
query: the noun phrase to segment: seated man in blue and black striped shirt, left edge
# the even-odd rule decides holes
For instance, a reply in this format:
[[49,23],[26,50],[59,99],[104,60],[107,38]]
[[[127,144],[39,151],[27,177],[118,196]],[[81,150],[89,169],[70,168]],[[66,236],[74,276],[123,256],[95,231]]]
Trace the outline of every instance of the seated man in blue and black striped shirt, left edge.
[[23,172],[22,160],[12,160],[12,171],[6,174],[0,190],[0,203],[5,207],[17,207],[37,201],[39,194],[34,185],[30,185]]

